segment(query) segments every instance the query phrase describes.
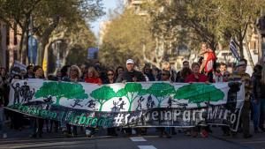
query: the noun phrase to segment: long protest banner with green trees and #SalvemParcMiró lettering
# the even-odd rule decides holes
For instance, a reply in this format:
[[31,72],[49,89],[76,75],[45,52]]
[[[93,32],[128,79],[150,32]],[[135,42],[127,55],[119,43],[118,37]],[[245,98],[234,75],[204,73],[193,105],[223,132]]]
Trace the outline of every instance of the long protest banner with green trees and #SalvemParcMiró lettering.
[[88,83],[19,80],[7,108],[26,115],[88,127],[194,127],[237,130],[244,86],[231,83]]

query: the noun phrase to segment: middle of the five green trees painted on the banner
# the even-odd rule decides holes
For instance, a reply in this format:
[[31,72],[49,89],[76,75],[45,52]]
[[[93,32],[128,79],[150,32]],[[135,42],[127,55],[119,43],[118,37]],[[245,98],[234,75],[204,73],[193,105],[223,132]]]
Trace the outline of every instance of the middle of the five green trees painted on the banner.
[[129,109],[128,111],[132,110],[133,101],[138,97],[146,94],[146,90],[142,89],[141,84],[138,83],[127,83],[125,88],[122,88],[117,91],[117,97],[125,96],[126,99],[129,101]]

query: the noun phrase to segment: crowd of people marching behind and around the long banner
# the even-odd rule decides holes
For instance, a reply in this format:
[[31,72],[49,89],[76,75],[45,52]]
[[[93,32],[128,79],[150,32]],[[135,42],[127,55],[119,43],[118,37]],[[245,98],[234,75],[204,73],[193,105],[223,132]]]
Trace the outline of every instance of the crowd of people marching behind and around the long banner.
[[[212,51],[207,48],[206,44],[202,44],[203,56],[211,57]],[[204,51],[204,52],[203,52]],[[208,55],[207,55],[207,52]],[[212,56],[213,57],[213,56]],[[47,132],[58,132],[59,128],[64,128],[63,124],[56,121],[49,121],[42,118],[28,117],[19,113],[15,113],[4,109],[9,103],[9,91],[11,81],[13,79],[27,79],[27,78],[40,78],[53,81],[67,81],[67,82],[87,82],[98,85],[112,84],[112,83],[125,83],[125,82],[145,82],[145,81],[170,81],[178,83],[191,83],[191,82],[228,82],[228,81],[242,81],[245,82],[245,101],[241,113],[241,121],[239,123],[239,132],[243,132],[244,138],[251,138],[250,121],[254,123],[254,133],[265,131],[264,117],[265,117],[265,82],[261,79],[261,64],[254,66],[254,73],[250,77],[246,73],[247,61],[241,59],[237,64],[234,71],[227,71],[225,63],[216,63],[216,68],[208,67],[209,58],[201,59],[198,63],[183,62],[183,67],[180,71],[175,71],[169,62],[162,63],[162,69],[152,67],[151,64],[146,63],[142,70],[135,69],[133,59],[128,59],[125,67],[118,66],[116,70],[105,69],[102,63],[95,63],[93,66],[87,67],[86,65],[65,65],[62,69],[57,70],[56,75],[44,76],[41,66],[27,66],[27,71],[20,71],[20,73],[9,74],[7,69],[0,68],[0,130],[3,138],[7,138],[6,126],[4,122],[10,120],[10,129],[23,130],[25,125],[31,125],[33,128],[31,138],[42,138],[43,126],[46,126]],[[202,69],[201,69],[202,67]],[[206,69],[206,67],[208,67]],[[262,92],[263,91],[263,92]],[[251,115],[251,116],[250,116]],[[24,117],[24,118],[23,118]],[[27,117],[28,121],[24,121]],[[81,128],[82,129],[82,128]],[[132,134],[132,129],[122,129],[127,135]],[[160,137],[165,135],[170,138],[170,135],[176,134],[174,128],[158,128]],[[223,135],[234,135],[229,128],[223,126]],[[76,137],[78,135],[78,127],[71,124],[66,124],[65,129],[62,129],[66,137]],[[92,137],[95,134],[95,129],[86,128],[83,130],[87,136]],[[147,129],[136,129],[138,134],[146,134]],[[185,130],[186,135],[207,138],[210,132],[209,126],[201,128],[193,128]],[[201,132],[201,133],[199,133]],[[109,128],[108,135],[117,136],[117,128]]]

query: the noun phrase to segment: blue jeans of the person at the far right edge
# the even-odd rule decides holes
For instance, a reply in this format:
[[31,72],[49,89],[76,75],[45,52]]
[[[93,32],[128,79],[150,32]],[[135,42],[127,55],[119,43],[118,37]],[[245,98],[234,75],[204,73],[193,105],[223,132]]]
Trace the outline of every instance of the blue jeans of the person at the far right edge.
[[258,100],[257,102],[252,101],[252,107],[253,107],[254,129],[257,129],[260,124],[261,100]]

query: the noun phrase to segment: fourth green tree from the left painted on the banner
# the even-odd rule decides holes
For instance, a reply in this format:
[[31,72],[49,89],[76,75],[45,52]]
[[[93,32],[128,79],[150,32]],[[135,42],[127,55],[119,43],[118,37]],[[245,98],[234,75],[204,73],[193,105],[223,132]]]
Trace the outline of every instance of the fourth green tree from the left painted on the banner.
[[156,100],[158,101],[157,107],[160,108],[164,98],[175,93],[175,88],[168,83],[154,83],[152,86],[150,86],[150,88],[148,88],[148,93],[155,96]]

